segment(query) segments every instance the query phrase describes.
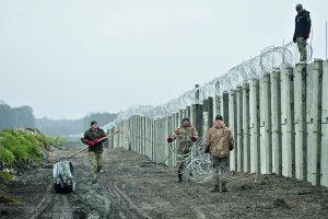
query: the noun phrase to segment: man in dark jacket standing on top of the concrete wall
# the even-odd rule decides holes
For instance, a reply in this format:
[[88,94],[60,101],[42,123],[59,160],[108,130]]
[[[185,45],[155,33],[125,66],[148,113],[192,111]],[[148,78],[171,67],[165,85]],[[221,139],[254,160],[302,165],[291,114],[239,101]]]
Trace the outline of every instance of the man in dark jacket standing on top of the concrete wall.
[[306,64],[307,51],[306,51],[306,39],[311,32],[311,18],[309,12],[303,9],[302,4],[296,5],[297,15],[295,18],[295,32],[293,42],[297,43],[298,51],[301,55],[298,64]]

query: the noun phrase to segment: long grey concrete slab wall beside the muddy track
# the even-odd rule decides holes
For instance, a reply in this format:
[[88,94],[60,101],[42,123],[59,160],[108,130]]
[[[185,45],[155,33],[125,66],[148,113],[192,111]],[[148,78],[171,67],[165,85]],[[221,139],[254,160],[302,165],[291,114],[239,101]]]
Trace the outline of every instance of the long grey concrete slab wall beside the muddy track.
[[[292,66],[281,59],[281,65],[270,69],[261,64],[258,73],[244,66],[241,72],[251,72],[251,77],[236,79],[238,76],[229,87],[224,87],[225,76],[166,105],[128,110],[105,127],[108,132],[122,130],[108,147],[122,147],[161,163],[171,153],[166,138],[183,117],[189,117],[202,136],[220,114],[235,138],[232,171],[278,174],[328,186],[328,61]],[[175,166],[176,154],[165,164]]]

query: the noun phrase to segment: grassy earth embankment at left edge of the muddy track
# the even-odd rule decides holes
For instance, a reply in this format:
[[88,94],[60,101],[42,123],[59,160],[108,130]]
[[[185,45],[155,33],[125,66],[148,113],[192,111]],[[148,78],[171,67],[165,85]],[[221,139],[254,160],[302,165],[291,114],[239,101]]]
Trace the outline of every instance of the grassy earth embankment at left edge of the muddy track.
[[[36,129],[17,128],[0,131],[0,203],[21,200],[12,196],[8,185],[14,180],[15,169],[37,166],[46,160],[46,152],[51,147],[65,145],[62,138],[50,138]],[[1,211],[0,211],[1,217]]]

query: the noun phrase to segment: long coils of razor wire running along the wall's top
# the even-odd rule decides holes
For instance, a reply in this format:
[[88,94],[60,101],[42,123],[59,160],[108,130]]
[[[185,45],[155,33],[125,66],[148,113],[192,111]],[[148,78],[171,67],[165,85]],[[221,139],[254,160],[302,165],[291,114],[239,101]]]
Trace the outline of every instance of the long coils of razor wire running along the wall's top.
[[[306,49],[307,61],[309,61],[312,59],[313,50],[308,44]],[[294,43],[278,47],[267,47],[260,55],[233,67],[227,73],[213,79],[200,88],[189,90],[165,104],[157,106],[133,106],[127,111],[120,112],[118,117],[110,124],[104,126],[104,128],[109,129],[133,115],[145,116],[153,119],[172,115],[179,110],[186,108],[186,106],[201,103],[203,100],[208,99],[208,96],[220,95],[223,92],[227,92],[247,80],[260,79],[263,74],[272,72],[274,68],[283,69],[292,66],[296,64],[298,57],[300,53]],[[199,93],[198,97],[196,97],[196,92]]]

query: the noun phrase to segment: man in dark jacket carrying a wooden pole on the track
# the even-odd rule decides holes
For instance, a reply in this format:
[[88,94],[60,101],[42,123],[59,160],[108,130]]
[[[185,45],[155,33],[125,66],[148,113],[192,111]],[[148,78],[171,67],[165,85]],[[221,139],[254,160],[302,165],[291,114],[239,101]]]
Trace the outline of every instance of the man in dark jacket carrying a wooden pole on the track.
[[95,120],[91,122],[91,128],[84,132],[81,139],[89,146],[89,160],[91,163],[92,183],[97,182],[97,173],[102,170],[103,142],[97,139],[105,137],[106,134],[101,129]]

